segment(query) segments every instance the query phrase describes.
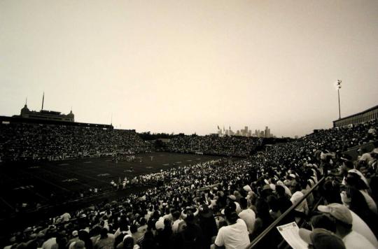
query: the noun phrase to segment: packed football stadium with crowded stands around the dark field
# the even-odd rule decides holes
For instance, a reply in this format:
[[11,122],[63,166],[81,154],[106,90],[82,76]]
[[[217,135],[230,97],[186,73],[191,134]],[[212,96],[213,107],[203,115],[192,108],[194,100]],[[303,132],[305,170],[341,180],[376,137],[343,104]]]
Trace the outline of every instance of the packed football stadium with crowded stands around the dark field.
[[[339,192],[345,187],[369,191],[366,201],[362,196],[367,210],[353,204],[354,196],[349,208],[376,234],[377,115],[375,106],[353,115],[356,121],[346,126],[294,141],[270,139],[269,146],[265,138],[216,135],[172,135],[158,143],[106,125],[1,117],[3,243],[10,239],[28,247],[34,236],[45,240],[56,232],[79,239],[73,234],[80,229],[95,238],[101,236],[95,227],[106,220],[109,233],[127,234],[131,230],[123,225],[134,225],[130,233],[142,248],[153,241],[162,248],[183,243],[207,248],[230,218],[222,211],[237,203],[235,215],[254,212],[253,229],[248,227],[250,241],[257,241],[253,247],[284,247],[269,227],[288,221],[308,226],[318,206],[344,203]],[[342,185],[339,169],[346,162],[352,169]],[[195,221],[188,221],[188,213]],[[201,241],[177,239],[178,221],[202,228]],[[155,240],[146,239],[148,232]],[[377,242],[374,235],[370,239]]]

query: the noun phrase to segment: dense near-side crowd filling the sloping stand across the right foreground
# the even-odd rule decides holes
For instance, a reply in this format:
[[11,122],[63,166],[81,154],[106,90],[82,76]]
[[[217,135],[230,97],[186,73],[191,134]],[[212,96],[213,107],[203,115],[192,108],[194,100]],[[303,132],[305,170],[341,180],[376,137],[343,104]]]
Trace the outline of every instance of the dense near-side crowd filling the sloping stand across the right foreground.
[[[377,128],[327,129],[235,162],[167,169],[158,187],[24,227],[4,249],[246,248],[292,205],[283,224],[303,222],[299,236],[315,248],[378,248]],[[342,153],[367,142],[374,149],[356,159]],[[256,248],[281,240],[272,229]]]

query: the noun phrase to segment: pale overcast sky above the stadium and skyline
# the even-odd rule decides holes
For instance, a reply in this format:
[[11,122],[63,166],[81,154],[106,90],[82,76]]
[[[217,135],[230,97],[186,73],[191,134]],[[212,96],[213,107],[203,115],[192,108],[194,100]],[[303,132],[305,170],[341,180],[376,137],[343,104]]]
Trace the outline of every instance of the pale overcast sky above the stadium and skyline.
[[0,115],[309,134],[378,104],[378,1],[0,1]]

